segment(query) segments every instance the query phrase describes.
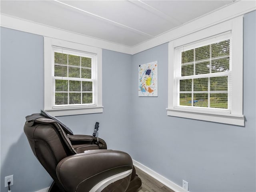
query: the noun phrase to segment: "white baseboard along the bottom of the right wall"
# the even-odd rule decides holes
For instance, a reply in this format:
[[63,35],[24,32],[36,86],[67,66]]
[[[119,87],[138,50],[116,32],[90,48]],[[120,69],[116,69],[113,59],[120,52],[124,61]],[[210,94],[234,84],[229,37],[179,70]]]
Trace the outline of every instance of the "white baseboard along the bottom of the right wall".
[[136,161],[134,159],[132,161],[133,161],[134,166],[138,167],[140,170],[142,170],[146,174],[152,176],[153,178],[155,178],[156,180],[158,180],[159,182],[161,182],[162,184],[164,184],[168,188],[174,190],[175,192],[186,192],[181,186],[179,186],[176,183],[166,179],[165,177],[163,177],[162,175],[153,171],[152,169],[144,166],[143,164],[139,163],[138,161]]

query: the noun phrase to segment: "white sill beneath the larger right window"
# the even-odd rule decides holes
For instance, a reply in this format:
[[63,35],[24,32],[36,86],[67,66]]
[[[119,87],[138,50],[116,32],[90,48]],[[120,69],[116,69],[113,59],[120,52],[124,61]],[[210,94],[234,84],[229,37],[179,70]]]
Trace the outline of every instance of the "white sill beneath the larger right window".
[[189,118],[189,119],[204,120],[204,121],[244,126],[244,116],[243,115],[210,114],[210,113],[184,111],[184,110],[173,109],[173,108],[166,108],[166,110],[167,110],[168,116],[176,116],[176,117],[182,117],[182,118]]

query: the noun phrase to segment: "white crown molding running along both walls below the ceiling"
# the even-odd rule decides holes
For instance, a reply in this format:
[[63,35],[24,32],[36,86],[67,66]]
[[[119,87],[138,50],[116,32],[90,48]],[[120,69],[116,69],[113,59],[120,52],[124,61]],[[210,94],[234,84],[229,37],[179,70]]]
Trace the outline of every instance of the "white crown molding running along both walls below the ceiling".
[[20,18],[15,18],[12,16],[8,16],[6,14],[0,15],[0,26],[133,55],[144,50],[153,48],[155,46],[158,46],[160,44],[164,44],[171,40],[175,40],[182,36],[186,36],[196,31],[208,28],[209,26],[213,26],[215,24],[241,16],[253,10],[256,10],[256,3],[254,0],[236,1],[228,6],[220,8],[214,12],[210,12],[209,14],[192,20],[186,24],[183,24],[182,26],[179,26],[168,32],[160,34],[155,38],[142,42],[141,44],[138,44],[133,47],[108,42],[97,38],[92,38],[82,34],[77,34],[74,32],[54,28],[51,26],[46,26],[44,24],[39,24],[36,22],[31,22]]

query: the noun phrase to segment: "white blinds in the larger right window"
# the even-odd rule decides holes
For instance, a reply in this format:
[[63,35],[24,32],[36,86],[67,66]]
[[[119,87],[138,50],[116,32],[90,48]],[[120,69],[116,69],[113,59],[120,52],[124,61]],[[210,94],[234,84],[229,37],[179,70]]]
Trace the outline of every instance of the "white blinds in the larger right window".
[[224,35],[176,48],[176,107],[230,112],[231,44]]

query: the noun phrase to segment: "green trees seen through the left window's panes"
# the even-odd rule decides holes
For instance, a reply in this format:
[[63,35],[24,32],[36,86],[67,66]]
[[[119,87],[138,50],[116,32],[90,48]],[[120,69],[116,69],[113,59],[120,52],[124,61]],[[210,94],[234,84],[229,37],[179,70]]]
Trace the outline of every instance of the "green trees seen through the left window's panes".
[[55,105],[93,104],[92,58],[54,52]]

